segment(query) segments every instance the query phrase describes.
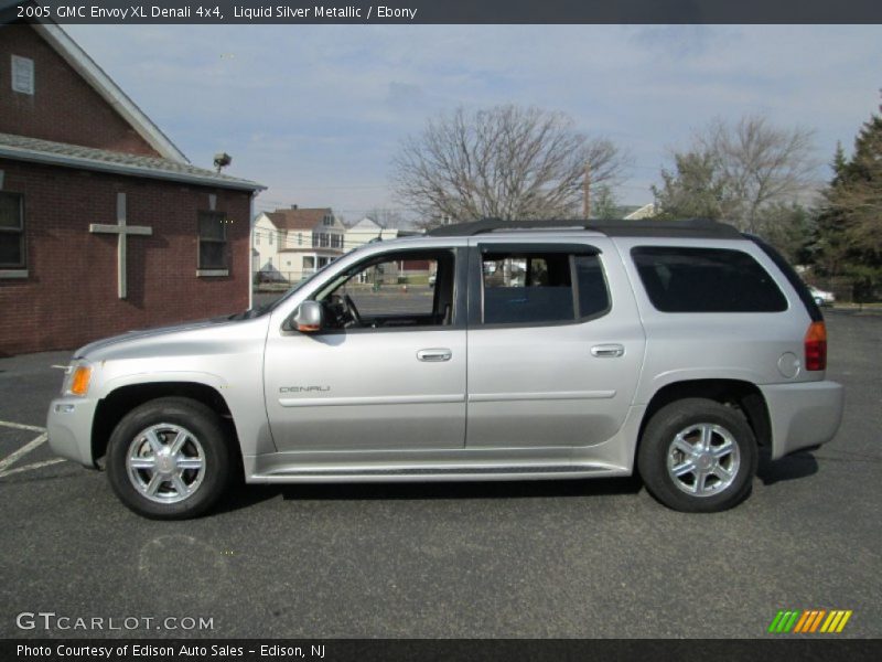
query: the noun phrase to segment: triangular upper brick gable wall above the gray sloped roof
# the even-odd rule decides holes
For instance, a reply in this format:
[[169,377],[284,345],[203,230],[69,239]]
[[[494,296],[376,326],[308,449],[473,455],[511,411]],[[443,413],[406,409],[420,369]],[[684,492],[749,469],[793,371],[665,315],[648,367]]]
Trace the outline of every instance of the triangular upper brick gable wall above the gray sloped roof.
[[[11,55],[34,61],[34,94],[12,90]],[[0,26],[0,132],[159,156],[30,25]]]

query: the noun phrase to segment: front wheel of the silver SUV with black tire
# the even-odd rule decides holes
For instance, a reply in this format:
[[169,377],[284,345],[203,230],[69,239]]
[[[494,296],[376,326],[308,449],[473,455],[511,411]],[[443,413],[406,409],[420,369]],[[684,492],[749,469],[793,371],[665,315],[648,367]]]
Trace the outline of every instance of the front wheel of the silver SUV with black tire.
[[[179,469],[174,462],[160,465],[144,435],[148,430],[153,433],[152,439],[164,442],[163,451],[166,447],[171,449],[172,435],[184,430],[183,450],[174,457],[191,465],[201,461],[201,468]],[[141,448],[144,450],[137,450]],[[132,461],[152,461],[154,466],[166,469],[169,478],[159,469],[130,471],[127,462],[132,453],[138,455]],[[129,412],[114,429],[107,447],[107,477],[120,501],[139,515],[151,520],[187,520],[207,512],[224,493],[234,466],[230,456],[229,439],[217,414],[185,397],[161,397]],[[186,490],[179,490],[172,481],[172,474],[178,471],[180,482],[176,485]],[[148,496],[152,485],[149,479],[155,473],[159,473],[157,488],[153,495]],[[158,501],[162,499],[166,501]]]

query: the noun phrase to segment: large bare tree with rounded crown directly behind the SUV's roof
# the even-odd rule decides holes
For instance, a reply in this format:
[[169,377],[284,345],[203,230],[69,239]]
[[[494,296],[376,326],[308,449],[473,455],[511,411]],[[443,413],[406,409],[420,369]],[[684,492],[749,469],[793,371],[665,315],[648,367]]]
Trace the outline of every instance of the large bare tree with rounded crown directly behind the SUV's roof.
[[581,215],[585,164],[591,186],[614,181],[620,150],[577,131],[561,113],[496,106],[429,120],[392,162],[401,202],[427,225],[483,217]]

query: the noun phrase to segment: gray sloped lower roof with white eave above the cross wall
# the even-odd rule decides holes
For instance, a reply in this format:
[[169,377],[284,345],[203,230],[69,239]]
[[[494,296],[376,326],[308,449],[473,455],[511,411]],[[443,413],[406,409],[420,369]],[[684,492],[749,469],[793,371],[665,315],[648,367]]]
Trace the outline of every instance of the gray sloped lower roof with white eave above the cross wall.
[[13,134],[0,134],[0,158],[222,189],[245,191],[266,189],[257,182],[219,174],[213,170],[196,168],[190,163],[171,159],[129,154]]

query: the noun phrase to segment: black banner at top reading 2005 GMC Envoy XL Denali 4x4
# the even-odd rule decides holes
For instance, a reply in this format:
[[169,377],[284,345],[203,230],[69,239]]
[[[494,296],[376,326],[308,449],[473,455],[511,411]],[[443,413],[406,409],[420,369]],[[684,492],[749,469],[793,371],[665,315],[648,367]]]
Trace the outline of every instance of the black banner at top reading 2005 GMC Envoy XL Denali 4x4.
[[0,22],[882,23],[880,0],[0,0]]

